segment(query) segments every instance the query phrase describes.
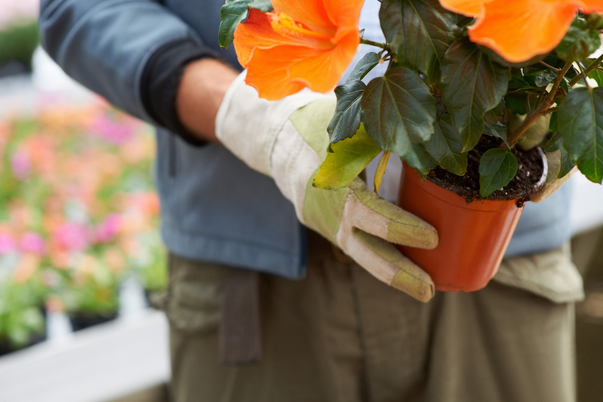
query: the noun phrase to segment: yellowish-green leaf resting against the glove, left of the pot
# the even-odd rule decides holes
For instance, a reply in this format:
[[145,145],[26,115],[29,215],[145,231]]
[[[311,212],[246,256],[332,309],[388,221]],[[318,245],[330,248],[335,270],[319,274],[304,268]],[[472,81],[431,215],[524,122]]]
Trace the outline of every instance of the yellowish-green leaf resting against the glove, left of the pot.
[[381,149],[360,127],[355,136],[332,145],[333,153],[320,165],[314,178],[314,187],[326,190],[340,189],[352,183]]

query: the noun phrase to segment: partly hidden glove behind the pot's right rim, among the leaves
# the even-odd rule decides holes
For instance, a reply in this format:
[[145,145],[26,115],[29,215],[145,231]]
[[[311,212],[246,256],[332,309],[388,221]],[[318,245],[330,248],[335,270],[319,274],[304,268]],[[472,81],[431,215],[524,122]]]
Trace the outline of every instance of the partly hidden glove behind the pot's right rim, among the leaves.
[[[511,132],[514,131],[525,118],[525,115],[513,115],[509,124],[509,130]],[[537,122],[534,123],[534,125],[532,125],[532,127],[528,128],[528,131],[526,131],[525,135],[517,145],[519,145],[519,147],[524,151],[540,145],[545,139],[546,134],[549,133],[550,123],[551,115],[541,117]],[[541,201],[545,201],[545,199],[549,198],[552,193],[560,189],[561,186],[563,186],[563,184],[565,184],[566,181],[578,171],[578,168],[574,166],[574,168],[568,174],[564,175],[564,177],[557,178],[559,172],[561,171],[561,151],[545,152],[545,156],[546,162],[548,162],[548,171],[546,173],[545,184],[543,184],[540,190],[532,195],[532,203],[540,203]]]

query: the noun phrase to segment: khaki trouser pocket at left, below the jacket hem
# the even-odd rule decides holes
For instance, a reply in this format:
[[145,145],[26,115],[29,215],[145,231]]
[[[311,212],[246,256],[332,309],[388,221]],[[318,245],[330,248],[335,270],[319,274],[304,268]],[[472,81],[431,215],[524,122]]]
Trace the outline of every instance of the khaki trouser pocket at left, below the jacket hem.
[[218,329],[220,297],[232,269],[169,255],[169,286],[165,312],[170,325],[186,333]]

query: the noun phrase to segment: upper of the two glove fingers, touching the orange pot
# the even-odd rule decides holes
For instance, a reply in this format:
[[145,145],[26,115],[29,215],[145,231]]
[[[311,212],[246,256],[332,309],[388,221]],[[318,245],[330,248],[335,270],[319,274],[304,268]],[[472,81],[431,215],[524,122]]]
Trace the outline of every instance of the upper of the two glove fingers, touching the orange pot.
[[392,243],[428,250],[438,245],[438,232],[432,225],[385,201],[364,183],[354,184],[342,220],[350,219],[353,227]]

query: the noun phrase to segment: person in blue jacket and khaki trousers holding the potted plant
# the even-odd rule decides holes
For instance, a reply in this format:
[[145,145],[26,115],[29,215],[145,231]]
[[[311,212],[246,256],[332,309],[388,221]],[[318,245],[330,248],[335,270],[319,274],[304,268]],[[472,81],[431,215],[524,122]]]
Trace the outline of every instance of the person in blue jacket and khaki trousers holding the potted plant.
[[307,186],[333,96],[259,99],[218,47],[221,5],[40,7],[48,54],[156,127],[174,400],[575,400],[570,186],[526,206],[485,289],[434,295],[385,240],[435,230],[359,179]]

